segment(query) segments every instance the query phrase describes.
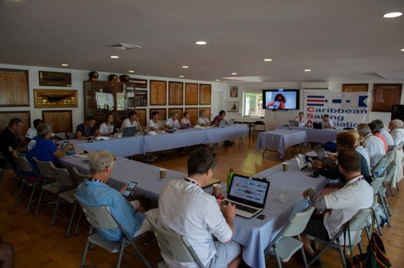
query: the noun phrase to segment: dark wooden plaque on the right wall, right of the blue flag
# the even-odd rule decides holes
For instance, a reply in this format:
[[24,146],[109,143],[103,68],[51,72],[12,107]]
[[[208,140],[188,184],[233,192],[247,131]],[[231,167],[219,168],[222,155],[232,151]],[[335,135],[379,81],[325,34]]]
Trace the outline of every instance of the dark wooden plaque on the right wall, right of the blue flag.
[[374,84],[372,112],[391,112],[391,106],[400,104],[402,84]]

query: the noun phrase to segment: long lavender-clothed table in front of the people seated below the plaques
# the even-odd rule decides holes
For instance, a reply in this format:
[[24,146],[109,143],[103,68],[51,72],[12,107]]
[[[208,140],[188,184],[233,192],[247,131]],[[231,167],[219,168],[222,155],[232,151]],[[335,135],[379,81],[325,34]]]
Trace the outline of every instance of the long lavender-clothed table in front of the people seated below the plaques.
[[87,151],[108,149],[112,154],[122,157],[143,155],[147,152],[164,151],[197,144],[218,143],[230,139],[248,136],[246,125],[228,125],[206,129],[179,129],[174,133],[157,133],[157,135],[141,135],[126,138],[110,138],[108,141],[70,140],[75,146]]

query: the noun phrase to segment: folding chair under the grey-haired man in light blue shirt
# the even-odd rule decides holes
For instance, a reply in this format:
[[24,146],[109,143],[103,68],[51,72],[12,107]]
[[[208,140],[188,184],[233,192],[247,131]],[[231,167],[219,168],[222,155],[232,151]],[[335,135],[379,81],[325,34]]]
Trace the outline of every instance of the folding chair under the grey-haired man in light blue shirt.
[[[84,247],[83,257],[81,258],[80,268],[84,267],[85,257],[87,255],[89,243],[100,246],[111,253],[119,253],[117,268],[119,268],[121,266],[121,261],[122,261],[123,252],[124,252],[125,247],[127,247],[128,245],[132,245],[132,247],[136,250],[137,254],[139,255],[140,260],[143,261],[147,267],[151,267],[150,264],[148,263],[148,261],[144,258],[143,254],[137,248],[137,246],[134,242],[137,238],[140,237],[140,235],[135,238],[129,237],[128,233],[117,223],[117,221],[115,221],[114,217],[111,215],[110,208],[108,206],[88,207],[88,206],[84,205],[83,203],[81,203],[79,200],[77,200],[77,202],[79,203],[81,209],[83,210],[84,215],[87,218],[87,221],[91,225],[89,235],[87,236],[87,241],[85,242],[85,247]],[[119,228],[122,231],[122,233],[124,234],[124,237],[122,238],[121,241],[118,241],[118,242],[108,241],[108,240],[104,239],[102,236],[100,236],[97,232],[93,233],[93,228],[96,228],[96,229]],[[127,251],[125,251],[125,252],[134,257],[137,257],[136,255],[132,254],[131,252],[127,252]]]

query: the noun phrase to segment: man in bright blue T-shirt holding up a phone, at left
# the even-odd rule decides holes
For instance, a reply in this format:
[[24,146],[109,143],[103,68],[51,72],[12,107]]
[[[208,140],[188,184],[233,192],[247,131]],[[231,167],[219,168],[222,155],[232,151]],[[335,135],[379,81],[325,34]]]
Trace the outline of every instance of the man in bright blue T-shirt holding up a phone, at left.
[[[61,158],[66,155],[66,152],[72,149],[72,145],[68,145],[65,149],[60,150],[51,140],[54,135],[52,127],[48,124],[41,124],[37,128],[38,135],[28,143],[28,152],[25,158],[31,166],[39,173],[38,166],[32,159],[35,157],[39,161],[54,161],[56,158]],[[34,173],[25,174],[28,180],[34,180]]]

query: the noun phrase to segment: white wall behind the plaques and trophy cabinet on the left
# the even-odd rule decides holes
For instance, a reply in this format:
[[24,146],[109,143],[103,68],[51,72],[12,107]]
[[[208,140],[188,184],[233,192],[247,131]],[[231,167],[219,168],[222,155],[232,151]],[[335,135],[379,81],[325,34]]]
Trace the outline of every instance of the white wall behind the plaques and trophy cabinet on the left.
[[[66,68],[47,68],[47,67],[39,67],[39,66],[25,66],[25,65],[12,65],[12,64],[1,64],[0,68],[8,68],[8,69],[21,69],[28,70],[29,76],[29,107],[0,107],[1,111],[30,111],[31,112],[31,125],[32,121],[36,118],[42,118],[42,110],[72,110],[73,115],[73,130],[76,128],[76,125],[82,123],[84,121],[84,101],[83,101],[83,81],[88,81],[88,73],[90,71],[83,70],[72,70]],[[39,86],[39,75],[38,71],[51,71],[51,72],[63,72],[63,73],[71,73],[72,74],[72,87],[43,87]],[[103,73],[98,72],[99,81],[108,81],[108,76],[112,73]],[[121,74],[116,74],[120,76]],[[146,76],[136,76],[130,75],[133,78],[140,78],[146,80],[163,80],[163,81],[178,81],[178,82],[188,82],[188,83],[203,83],[203,84],[211,84],[212,92],[225,92],[226,84],[225,83],[217,83],[210,81],[196,81],[196,80],[186,80],[186,79],[177,79],[177,78],[162,78],[162,77],[146,77]],[[167,83],[168,86],[168,83]],[[75,89],[78,91],[78,107],[77,108],[34,108],[34,89]],[[148,81],[147,81],[147,89],[148,91]],[[150,94],[147,93],[148,103],[150,103]],[[184,94],[185,96],[185,94]],[[167,100],[168,100],[168,90],[167,90]],[[168,103],[168,101],[167,101]],[[168,108],[169,106],[153,106],[153,108]],[[170,106],[170,108],[177,107],[210,107],[210,105],[180,105],[180,106]],[[147,119],[149,117],[149,106],[148,107],[139,107],[141,109],[147,109]],[[119,126],[118,126],[119,127]]]

